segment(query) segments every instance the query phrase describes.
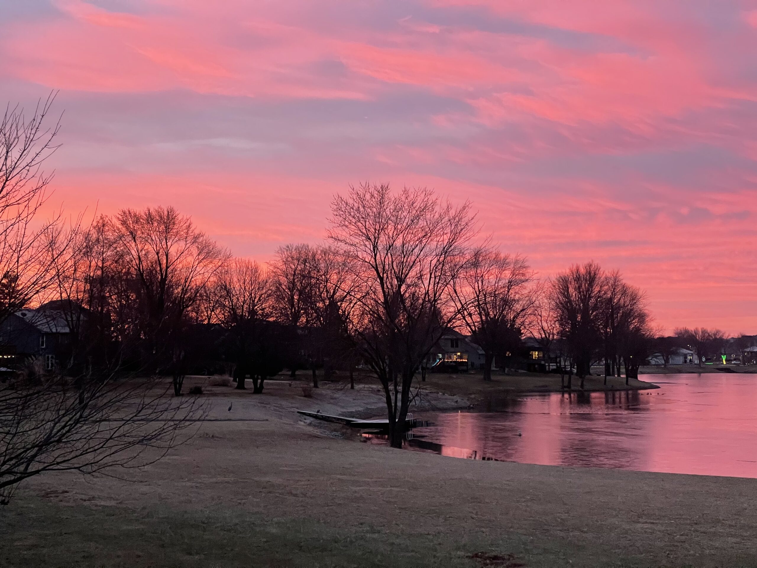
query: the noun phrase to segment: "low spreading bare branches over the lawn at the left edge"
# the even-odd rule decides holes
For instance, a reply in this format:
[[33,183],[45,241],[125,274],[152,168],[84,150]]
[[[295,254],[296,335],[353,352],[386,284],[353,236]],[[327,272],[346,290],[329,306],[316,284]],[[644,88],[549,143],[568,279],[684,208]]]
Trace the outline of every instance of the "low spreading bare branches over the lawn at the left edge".
[[[0,504],[24,479],[49,471],[143,467],[191,437],[198,398],[165,398],[154,379],[20,376],[0,386]],[[185,432],[184,432],[185,431]]]

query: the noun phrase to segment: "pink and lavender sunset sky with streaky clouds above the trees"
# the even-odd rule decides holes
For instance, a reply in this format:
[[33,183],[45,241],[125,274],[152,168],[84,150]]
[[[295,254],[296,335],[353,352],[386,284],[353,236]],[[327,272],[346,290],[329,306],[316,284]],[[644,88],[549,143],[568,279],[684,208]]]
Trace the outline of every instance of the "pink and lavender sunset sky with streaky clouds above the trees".
[[541,276],[757,333],[757,0],[0,0],[67,211],[173,204],[266,261],[362,180],[469,198]]

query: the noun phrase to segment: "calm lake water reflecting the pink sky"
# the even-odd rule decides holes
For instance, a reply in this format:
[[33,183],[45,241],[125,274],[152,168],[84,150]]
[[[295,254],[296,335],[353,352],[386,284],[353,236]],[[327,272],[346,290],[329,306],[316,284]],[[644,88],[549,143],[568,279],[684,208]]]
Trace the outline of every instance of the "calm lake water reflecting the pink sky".
[[[757,375],[647,375],[660,389],[551,393],[422,414],[411,449],[468,459],[757,478]],[[521,435],[519,435],[519,432]]]

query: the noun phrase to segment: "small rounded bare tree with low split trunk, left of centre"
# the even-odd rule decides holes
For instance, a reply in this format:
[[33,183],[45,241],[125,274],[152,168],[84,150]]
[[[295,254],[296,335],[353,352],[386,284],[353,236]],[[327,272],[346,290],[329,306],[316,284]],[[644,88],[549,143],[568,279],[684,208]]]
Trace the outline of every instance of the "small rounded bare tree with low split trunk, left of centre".
[[263,392],[266,373],[256,362],[255,351],[273,308],[271,282],[257,262],[235,259],[220,270],[218,289],[221,321],[233,338],[236,388],[245,389],[249,374],[253,392]]

